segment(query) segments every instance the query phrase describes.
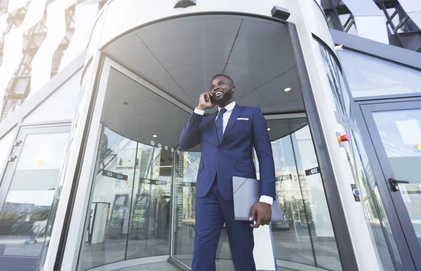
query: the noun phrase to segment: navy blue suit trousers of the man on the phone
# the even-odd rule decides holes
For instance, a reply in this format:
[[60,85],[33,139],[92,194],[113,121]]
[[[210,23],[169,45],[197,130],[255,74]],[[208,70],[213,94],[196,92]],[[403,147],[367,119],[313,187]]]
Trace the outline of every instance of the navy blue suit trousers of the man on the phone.
[[192,271],[215,271],[222,226],[227,226],[229,247],[236,271],[255,271],[254,237],[250,222],[234,220],[234,202],[221,197],[215,181],[205,197],[196,197],[196,224]]

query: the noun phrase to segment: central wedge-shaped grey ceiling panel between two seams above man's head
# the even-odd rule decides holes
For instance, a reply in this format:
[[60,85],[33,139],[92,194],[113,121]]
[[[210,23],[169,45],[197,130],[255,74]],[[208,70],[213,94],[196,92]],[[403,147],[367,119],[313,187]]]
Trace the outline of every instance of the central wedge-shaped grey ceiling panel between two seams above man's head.
[[222,72],[240,24],[239,17],[203,15],[160,22],[136,34],[170,73],[196,64],[219,64]]

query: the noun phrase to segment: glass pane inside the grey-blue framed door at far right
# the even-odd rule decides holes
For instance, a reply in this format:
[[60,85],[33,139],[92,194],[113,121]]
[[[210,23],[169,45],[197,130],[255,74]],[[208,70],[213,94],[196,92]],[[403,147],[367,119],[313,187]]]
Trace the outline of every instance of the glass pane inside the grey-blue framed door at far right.
[[374,112],[377,131],[421,244],[421,110]]

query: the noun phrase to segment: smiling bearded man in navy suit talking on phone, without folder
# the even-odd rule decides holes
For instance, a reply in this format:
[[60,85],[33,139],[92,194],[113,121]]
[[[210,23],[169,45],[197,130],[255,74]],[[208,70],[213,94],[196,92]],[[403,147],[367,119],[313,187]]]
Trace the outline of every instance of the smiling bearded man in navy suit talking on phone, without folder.
[[[234,102],[235,86],[230,77],[217,74],[210,91],[203,93],[180,135],[180,147],[201,145],[196,183],[196,225],[192,271],[215,270],[215,256],[222,226],[227,226],[229,246],[236,271],[255,271],[253,228],[269,225],[276,197],[272,147],[265,117],[257,107]],[[213,103],[212,103],[213,102]],[[218,105],[218,112],[203,117]],[[232,177],[256,178],[255,148],[260,167],[260,201],[250,221],[234,220]]]

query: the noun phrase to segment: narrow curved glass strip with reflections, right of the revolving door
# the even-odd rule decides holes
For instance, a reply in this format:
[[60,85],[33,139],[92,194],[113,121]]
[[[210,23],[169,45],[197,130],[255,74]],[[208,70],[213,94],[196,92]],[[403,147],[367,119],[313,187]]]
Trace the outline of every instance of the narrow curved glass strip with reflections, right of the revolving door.
[[[347,116],[354,121],[352,112],[347,112],[340,107],[344,101],[349,100],[347,88],[343,82],[342,74],[336,72],[339,70],[338,65],[333,61],[333,56],[328,50],[319,44],[321,55],[323,57],[326,76],[329,79],[332,98],[335,100],[336,110],[342,115]],[[335,78],[333,80],[332,78]],[[340,84],[339,84],[340,83]],[[338,95],[340,93],[340,95]],[[377,182],[373,175],[366,155],[366,149],[361,143],[361,138],[357,131],[351,130],[347,126],[342,126],[341,134],[349,135],[349,142],[345,145],[349,167],[352,170],[356,186],[361,192],[361,200],[363,201],[364,215],[370,231],[371,241],[375,247],[377,259],[382,263],[386,270],[394,270],[394,265],[401,265],[399,251],[397,251],[396,242],[392,236],[392,230],[389,226],[385,207],[377,188]],[[393,259],[393,260],[392,260]]]

